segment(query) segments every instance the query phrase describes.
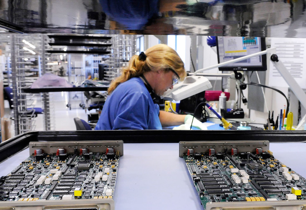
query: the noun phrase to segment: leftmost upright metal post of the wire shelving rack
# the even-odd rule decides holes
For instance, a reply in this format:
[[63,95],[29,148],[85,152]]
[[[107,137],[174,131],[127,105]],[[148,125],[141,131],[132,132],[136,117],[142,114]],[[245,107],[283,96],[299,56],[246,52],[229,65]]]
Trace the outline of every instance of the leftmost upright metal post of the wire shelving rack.
[[17,69],[15,56],[15,38],[16,35],[11,35],[11,70],[12,70],[12,87],[13,87],[13,109],[14,109],[14,127],[15,135],[20,134],[19,119],[18,119],[18,95],[17,95]]

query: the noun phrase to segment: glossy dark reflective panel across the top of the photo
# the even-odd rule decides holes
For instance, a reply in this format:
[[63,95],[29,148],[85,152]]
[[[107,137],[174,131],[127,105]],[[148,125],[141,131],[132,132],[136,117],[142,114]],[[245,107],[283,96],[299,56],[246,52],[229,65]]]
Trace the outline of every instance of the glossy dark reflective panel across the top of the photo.
[[[24,33],[306,38],[306,0],[0,0]],[[7,23],[6,22],[6,23]]]

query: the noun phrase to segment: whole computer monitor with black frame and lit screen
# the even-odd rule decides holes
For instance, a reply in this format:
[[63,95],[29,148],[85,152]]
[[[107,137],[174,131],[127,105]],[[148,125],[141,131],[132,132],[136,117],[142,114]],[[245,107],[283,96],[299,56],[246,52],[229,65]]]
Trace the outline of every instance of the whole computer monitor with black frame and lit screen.
[[[265,38],[261,37],[217,37],[218,63],[266,50]],[[260,55],[219,67],[219,71],[266,71],[267,56]]]

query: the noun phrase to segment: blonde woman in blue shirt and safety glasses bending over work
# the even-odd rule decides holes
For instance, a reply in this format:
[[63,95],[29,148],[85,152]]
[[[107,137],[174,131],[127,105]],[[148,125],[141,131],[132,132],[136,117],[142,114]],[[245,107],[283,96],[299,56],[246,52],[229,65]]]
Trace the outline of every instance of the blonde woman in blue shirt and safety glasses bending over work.
[[134,55],[122,75],[111,82],[95,130],[152,130],[184,124],[186,115],[160,111],[156,102],[185,77],[183,61],[165,44]]

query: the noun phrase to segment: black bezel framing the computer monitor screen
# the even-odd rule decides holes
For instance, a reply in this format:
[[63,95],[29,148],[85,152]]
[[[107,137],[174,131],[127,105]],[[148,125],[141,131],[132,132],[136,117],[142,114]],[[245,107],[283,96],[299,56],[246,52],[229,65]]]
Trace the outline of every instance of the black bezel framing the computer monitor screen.
[[[260,39],[260,46],[261,51],[266,50],[266,39],[265,37],[258,37]],[[218,47],[218,36],[216,36],[216,47],[217,47],[217,57],[218,57],[218,64],[220,63],[219,57],[219,47]],[[261,56],[263,65],[260,66],[222,66],[219,67],[219,71],[267,71],[267,55],[264,54]],[[245,68],[247,70],[245,70]]]

